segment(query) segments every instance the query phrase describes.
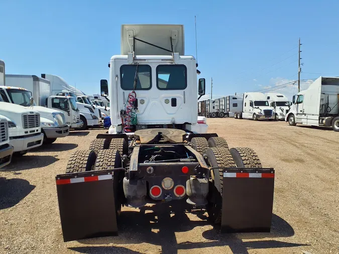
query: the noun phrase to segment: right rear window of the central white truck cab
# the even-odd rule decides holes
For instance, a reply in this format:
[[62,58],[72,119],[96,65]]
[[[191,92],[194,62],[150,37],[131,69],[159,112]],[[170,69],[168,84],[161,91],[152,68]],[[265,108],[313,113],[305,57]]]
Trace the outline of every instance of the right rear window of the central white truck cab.
[[158,65],[157,87],[160,90],[184,90],[187,87],[185,65]]

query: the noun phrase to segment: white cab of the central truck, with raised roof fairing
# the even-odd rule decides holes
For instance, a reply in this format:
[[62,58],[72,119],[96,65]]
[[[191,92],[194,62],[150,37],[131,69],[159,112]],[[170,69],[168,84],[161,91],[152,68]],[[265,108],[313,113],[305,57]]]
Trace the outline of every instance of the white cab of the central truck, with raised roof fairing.
[[[152,39],[155,46],[148,43]],[[109,88],[106,80],[100,81],[101,95],[110,96],[108,133],[159,126],[206,131],[200,128],[204,117],[197,118],[196,67],[194,57],[184,55],[182,26],[124,25],[121,55],[109,61]],[[200,88],[204,82],[199,80]]]

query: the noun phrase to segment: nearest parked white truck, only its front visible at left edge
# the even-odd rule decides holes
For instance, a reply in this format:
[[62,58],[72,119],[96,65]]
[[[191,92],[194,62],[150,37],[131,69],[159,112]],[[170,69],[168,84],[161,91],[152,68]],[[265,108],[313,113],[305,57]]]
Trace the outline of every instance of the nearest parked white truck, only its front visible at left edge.
[[0,169],[11,163],[13,146],[10,145],[8,121],[0,115]]

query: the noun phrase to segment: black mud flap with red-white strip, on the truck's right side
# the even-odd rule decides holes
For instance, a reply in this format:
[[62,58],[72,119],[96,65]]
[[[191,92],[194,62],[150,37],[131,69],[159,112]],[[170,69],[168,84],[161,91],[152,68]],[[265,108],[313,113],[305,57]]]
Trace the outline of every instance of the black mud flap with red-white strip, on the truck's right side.
[[274,169],[223,170],[221,232],[270,232]]

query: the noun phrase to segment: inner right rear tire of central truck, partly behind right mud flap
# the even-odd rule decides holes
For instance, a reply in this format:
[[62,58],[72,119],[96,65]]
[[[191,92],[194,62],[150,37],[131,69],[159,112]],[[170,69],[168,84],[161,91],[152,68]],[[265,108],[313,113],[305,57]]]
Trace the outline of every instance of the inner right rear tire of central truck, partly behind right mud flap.
[[[232,155],[226,148],[213,147],[206,151],[207,161],[210,167],[235,167]],[[213,169],[213,178],[208,184],[208,204],[206,210],[208,219],[214,224],[220,224],[222,215],[222,185],[223,170]]]

